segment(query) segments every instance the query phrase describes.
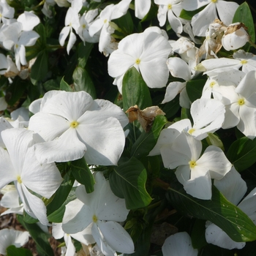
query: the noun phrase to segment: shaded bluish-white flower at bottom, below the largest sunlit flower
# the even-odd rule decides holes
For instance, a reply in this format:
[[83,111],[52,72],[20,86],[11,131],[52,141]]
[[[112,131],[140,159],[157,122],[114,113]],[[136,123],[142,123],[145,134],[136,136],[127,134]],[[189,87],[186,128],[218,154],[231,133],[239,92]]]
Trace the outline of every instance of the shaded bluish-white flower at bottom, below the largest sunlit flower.
[[89,227],[104,255],[130,254],[134,252],[132,238],[118,223],[124,222],[129,212],[125,200],[113,195],[101,172],[94,177],[94,192],[87,194],[84,186],[76,189],[78,199],[67,204],[62,228],[65,233],[75,234]]

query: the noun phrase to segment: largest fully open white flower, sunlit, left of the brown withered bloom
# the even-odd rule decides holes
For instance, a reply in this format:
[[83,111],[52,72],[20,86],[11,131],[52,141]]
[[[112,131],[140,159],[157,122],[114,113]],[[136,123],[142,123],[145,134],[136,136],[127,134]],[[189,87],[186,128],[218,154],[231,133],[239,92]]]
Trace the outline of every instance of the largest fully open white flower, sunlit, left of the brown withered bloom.
[[93,100],[85,91],[48,91],[29,129],[47,141],[35,145],[39,162],[67,162],[84,155],[90,165],[117,165],[127,124],[125,113],[108,100]]

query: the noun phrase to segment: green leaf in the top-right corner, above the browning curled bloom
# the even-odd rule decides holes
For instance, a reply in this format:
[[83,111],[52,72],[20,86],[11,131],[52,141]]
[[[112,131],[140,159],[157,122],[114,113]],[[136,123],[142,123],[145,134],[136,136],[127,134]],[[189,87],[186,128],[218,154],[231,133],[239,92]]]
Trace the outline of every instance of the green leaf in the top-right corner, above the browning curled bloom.
[[241,4],[235,12],[233,17],[233,23],[241,22],[248,28],[248,34],[250,36],[250,40],[255,42],[255,24],[252,18],[252,12],[249,9],[249,5],[246,1]]

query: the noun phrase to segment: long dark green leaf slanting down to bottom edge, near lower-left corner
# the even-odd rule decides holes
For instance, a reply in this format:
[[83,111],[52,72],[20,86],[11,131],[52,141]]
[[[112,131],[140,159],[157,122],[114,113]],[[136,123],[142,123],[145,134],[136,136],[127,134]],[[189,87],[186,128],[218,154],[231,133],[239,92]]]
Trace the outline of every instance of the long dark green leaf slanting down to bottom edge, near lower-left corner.
[[29,231],[29,235],[37,244],[37,250],[39,250],[45,256],[54,256],[53,249],[50,247],[48,238],[49,234],[46,234],[41,230],[37,224],[29,224],[23,221],[23,217],[17,214],[18,222],[20,222],[26,230]]

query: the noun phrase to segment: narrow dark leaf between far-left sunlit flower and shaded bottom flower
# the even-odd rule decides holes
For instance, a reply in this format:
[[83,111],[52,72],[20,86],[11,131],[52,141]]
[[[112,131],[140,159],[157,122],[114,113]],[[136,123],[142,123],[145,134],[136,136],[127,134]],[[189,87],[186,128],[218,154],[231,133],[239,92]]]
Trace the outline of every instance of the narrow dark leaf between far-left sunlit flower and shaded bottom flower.
[[72,189],[74,181],[75,178],[73,178],[73,176],[70,176],[70,173],[65,174],[64,181],[62,181],[61,186],[59,187],[59,189],[57,189],[57,191],[53,195],[53,199],[47,206],[48,215],[52,214],[53,211],[58,210],[62,206],[64,201],[67,199],[70,190]]

